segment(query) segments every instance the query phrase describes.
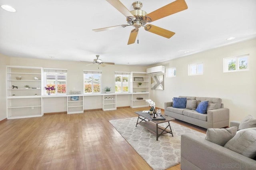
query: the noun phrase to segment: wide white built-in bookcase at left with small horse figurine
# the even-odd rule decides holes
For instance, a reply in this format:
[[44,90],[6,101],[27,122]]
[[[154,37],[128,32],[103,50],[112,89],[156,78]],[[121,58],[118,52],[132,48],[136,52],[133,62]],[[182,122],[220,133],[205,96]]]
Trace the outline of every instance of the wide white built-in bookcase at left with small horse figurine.
[[7,66],[6,69],[7,118],[42,116],[42,67]]

